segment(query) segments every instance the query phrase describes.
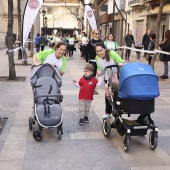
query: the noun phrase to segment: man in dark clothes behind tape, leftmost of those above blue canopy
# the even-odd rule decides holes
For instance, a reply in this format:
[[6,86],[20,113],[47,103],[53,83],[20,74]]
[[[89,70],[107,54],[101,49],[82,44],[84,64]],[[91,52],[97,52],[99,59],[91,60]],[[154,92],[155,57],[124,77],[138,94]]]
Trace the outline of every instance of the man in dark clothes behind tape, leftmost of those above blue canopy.
[[[132,35],[132,31],[131,30],[129,30],[128,34],[125,36],[125,44],[126,44],[126,47],[129,47],[129,48],[132,47],[132,44],[135,45],[134,37]],[[129,61],[130,53],[131,53],[131,50],[130,49],[126,49],[125,60]]]

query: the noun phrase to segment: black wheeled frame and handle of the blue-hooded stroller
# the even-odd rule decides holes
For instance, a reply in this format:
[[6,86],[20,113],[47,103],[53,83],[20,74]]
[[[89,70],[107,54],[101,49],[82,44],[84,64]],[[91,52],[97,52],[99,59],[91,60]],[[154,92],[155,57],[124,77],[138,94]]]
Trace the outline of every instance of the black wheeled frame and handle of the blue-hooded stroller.
[[[118,67],[118,65],[110,65],[105,68],[110,68],[110,72],[112,72],[112,67]],[[107,74],[107,72],[105,72]],[[111,73],[112,75],[113,73]],[[106,75],[105,77],[109,77]],[[109,80],[107,80],[107,84],[110,91],[110,104],[112,105],[112,113],[110,116],[103,117],[102,129],[103,134],[106,138],[109,138],[111,135],[111,128],[117,129],[118,133],[123,136],[123,148],[125,152],[128,152],[130,149],[130,137],[131,136],[139,136],[137,134],[138,131],[144,131],[142,135],[146,135],[148,129],[152,131],[149,134],[149,145],[152,150],[157,148],[157,139],[158,139],[158,127],[155,126],[154,121],[151,119],[151,116],[148,115],[149,124],[147,125],[138,125],[138,126],[128,126],[125,124],[125,120],[122,118],[122,114],[128,114],[130,117],[130,113],[125,110],[121,110],[121,99],[118,97],[118,91],[112,88],[112,85],[109,84]],[[114,85],[115,86],[115,85]],[[114,94],[114,97],[112,95]],[[117,100],[116,100],[117,99]],[[116,101],[115,101],[116,100]],[[129,120],[128,120],[129,121]],[[134,120],[133,120],[134,121]],[[135,120],[136,121],[136,120]],[[121,131],[121,128],[124,129],[124,132]]]

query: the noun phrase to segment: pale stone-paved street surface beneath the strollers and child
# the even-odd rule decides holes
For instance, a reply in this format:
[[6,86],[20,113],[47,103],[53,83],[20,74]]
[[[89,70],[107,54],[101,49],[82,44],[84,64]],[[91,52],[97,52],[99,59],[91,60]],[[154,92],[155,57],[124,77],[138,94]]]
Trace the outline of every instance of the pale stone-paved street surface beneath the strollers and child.
[[[130,60],[136,61],[134,52]],[[0,53],[0,61],[0,76],[8,76],[8,56]],[[32,63],[32,58],[29,57],[28,61]],[[143,57],[141,62],[146,63]],[[130,151],[125,153],[122,137],[116,130],[112,130],[109,139],[102,133],[105,107],[103,86],[96,89],[90,123],[83,127],[78,124],[78,89],[72,80],[79,80],[86,64],[80,58],[79,51],[67,61],[67,71],[62,77],[64,134],[61,141],[57,139],[56,129],[44,129],[42,142],[33,139],[33,131],[28,127],[28,118],[33,113],[33,93],[29,83],[31,66],[20,65],[17,52],[15,63],[17,76],[26,77],[26,81],[0,81],[0,117],[8,117],[0,135],[1,170],[170,169],[170,80],[159,81],[161,95],[155,100],[155,112],[152,114],[159,128],[157,149],[150,149],[148,133],[146,136],[131,137]],[[160,61],[155,63],[155,72],[158,76],[163,73],[163,63]]]

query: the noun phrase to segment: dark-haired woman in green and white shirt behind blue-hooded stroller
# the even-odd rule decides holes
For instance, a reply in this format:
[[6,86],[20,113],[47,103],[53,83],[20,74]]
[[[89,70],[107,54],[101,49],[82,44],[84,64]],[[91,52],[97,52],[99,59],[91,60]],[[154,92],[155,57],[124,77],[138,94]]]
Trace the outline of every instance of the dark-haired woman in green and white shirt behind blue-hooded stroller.
[[[99,42],[96,44],[96,63],[97,63],[97,75],[98,76],[102,76],[104,74],[104,69],[107,66],[110,65],[118,65],[119,67],[123,66],[123,62],[124,60],[122,60],[122,58],[115,52],[112,50],[108,50],[106,49],[106,46]],[[114,68],[114,73],[115,73],[115,82],[118,83],[118,78],[117,78],[117,68]],[[111,114],[112,112],[112,106],[107,98],[107,96],[109,96],[109,87],[108,84],[106,82],[105,84],[105,104],[106,104],[106,108],[105,108],[105,112],[106,114]]]

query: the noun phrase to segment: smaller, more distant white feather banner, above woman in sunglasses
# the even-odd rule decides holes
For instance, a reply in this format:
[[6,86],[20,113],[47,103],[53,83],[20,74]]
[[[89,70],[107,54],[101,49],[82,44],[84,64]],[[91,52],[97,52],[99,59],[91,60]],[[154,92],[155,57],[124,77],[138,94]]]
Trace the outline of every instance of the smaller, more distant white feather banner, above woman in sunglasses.
[[92,8],[89,5],[85,6],[85,14],[87,16],[87,19],[89,21],[89,24],[92,30],[97,29],[96,18],[95,18]]

